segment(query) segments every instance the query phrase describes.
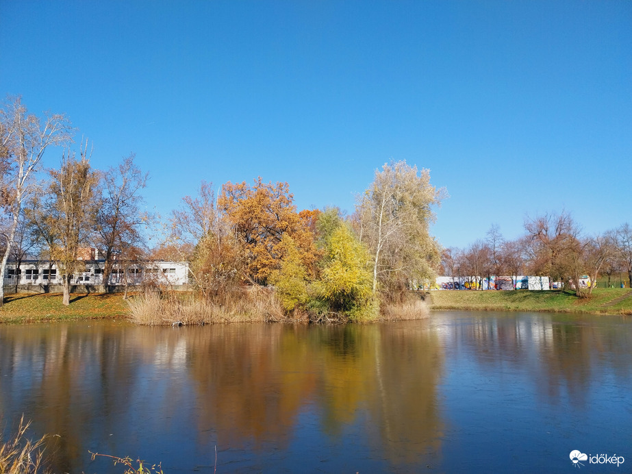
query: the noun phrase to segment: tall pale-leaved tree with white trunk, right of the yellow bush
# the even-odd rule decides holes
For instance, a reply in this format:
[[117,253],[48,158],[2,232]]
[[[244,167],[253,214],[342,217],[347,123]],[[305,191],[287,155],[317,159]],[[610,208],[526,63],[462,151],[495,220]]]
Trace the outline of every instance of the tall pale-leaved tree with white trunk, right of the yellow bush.
[[440,262],[440,246],[430,235],[433,206],[445,195],[430,184],[430,172],[405,161],[384,164],[359,198],[356,225],[371,253],[372,289],[393,295],[409,282],[429,279]]

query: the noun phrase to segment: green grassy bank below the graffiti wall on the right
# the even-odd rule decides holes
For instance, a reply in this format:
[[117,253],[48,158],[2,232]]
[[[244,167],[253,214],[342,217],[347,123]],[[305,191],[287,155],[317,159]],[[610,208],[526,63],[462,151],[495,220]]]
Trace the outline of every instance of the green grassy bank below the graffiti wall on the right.
[[607,303],[629,292],[629,288],[596,288],[590,298],[579,299],[574,293],[551,291],[433,291],[432,310],[551,311],[592,314],[632,314],[632,297],[603,308]]

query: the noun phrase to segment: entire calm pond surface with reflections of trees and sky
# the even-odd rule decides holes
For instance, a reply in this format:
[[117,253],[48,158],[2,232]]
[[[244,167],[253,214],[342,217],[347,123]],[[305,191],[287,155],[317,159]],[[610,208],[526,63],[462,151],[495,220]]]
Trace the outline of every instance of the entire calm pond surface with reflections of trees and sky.
[[0,413],[59,435],[56,473],[123,472],[88,450],[165,473],[570,473],[576,449],[629,473],[632,319],[4,325]]

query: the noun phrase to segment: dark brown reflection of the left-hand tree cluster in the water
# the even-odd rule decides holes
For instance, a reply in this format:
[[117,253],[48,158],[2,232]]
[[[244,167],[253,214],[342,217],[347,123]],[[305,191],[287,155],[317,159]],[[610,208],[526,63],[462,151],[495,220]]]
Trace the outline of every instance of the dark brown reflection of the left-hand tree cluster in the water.
[[55,434],[53,471],[81,469],[90,440],[117,425],[133,366],[123,362],[125,337],[107,325],[37,325],[0,329],[0,407],[19,407],[40,434]]

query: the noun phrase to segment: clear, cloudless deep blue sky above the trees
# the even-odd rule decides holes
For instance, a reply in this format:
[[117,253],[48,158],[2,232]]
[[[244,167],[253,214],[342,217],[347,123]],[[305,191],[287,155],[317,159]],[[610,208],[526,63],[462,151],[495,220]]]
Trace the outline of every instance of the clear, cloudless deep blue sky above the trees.
[[68,114],[97,168],[136,152],[164,215],[259,175],[353,212],[406,160],[451,196],[445,247],[546,211],[632,223],[627,0],[0,0],[7,94]]

